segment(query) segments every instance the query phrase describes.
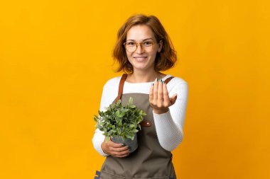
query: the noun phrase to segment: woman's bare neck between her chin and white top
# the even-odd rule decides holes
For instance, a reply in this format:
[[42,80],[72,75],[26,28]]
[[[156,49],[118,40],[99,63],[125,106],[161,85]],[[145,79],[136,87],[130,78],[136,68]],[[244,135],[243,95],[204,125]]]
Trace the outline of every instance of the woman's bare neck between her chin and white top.
[[129,74],[127,76],[126,81],[131,83],[145,83],[145,82],[151,82],[155,79],[162,79],[165,74],[161,74],[159,71],[138,71],[134,70],[132,74]]

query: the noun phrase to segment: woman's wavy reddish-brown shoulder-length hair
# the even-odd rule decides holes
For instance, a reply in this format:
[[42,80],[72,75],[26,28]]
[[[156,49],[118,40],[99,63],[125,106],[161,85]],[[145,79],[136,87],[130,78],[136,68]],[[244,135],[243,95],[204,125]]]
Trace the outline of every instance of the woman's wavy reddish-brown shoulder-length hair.
[[156,41],[163,42],[161,52],[157,52],[156,54],[155,70],[165,71],[172,68],[177,60],[177,57],[171,39],[166,33],[165,28],[163,28],[163,25],[158,18],[156,18],[156,16],[137,14],[128,18],[117,33],[117,42],[112,54],[114,60],[119,63],[117,72],[122,70],[128,73],[133,72],[133,67],[126,56],[126,50],[123,44],[126,42],[126,33],[134,25],[147,25],[149,28],[151,28],[153,34],[155,35]]

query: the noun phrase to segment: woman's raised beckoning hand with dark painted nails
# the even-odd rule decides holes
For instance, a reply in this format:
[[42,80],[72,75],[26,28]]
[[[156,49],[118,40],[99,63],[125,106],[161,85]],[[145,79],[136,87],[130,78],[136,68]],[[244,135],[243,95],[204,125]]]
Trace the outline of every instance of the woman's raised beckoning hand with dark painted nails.
[[161,80],[155,81],[150,88],[149,102],[153,112],[158,115],[168,112],[169,107],[175,103],[176,98],[176,93],[172,98],[168,96],[166,83]]

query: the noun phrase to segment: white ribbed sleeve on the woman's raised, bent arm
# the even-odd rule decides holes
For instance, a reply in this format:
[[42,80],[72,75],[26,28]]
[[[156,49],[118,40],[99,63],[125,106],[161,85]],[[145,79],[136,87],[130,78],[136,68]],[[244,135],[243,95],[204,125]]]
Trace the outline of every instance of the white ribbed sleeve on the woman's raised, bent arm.
[[168,112],[158,115],[153,112],[158,141],[167,151],[173,151],[183,140],[183,125],[188,99],[188,83],[175,84],[169,96],[177,94],[177,99]]

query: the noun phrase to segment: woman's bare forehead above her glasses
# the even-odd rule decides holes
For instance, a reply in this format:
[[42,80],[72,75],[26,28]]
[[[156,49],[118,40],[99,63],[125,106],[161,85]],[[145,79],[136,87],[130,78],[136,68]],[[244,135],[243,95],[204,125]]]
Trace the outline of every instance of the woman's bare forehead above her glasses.
[[126,33],[126,40],[144,40],[146,38],[154,39],[153,31],[147,25],[135,25]]

